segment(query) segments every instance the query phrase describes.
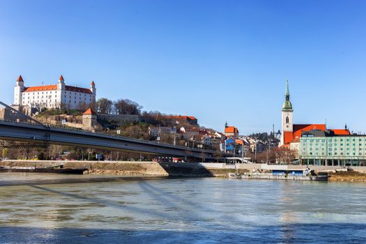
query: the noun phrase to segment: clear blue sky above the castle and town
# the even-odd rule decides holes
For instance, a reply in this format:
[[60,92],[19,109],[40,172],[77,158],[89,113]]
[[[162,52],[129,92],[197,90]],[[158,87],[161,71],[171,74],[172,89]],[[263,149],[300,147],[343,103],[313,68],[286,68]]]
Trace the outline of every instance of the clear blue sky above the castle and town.
[[295,123],[366,132],[366,1],[0,0],[0,100],[26,86],[89,86],[145,110],[241,134]]

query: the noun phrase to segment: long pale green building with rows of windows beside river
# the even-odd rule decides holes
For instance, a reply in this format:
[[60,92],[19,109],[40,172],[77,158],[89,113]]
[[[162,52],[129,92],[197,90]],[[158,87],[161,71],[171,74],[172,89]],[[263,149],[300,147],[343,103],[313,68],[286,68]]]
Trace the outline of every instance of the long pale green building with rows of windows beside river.
[[299,159],[303,165],[366,166],[366,135],[335,135],[330,130],[304,132]]

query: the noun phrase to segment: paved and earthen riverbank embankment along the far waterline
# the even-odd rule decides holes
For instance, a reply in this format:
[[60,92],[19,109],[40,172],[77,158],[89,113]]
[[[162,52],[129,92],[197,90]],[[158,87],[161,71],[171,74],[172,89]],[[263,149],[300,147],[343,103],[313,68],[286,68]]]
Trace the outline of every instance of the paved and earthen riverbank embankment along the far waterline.
[[[172,177],[220,177],[227,178],[229,173],[270,173],[272,170],[303,169],[304,165],[266,165],[201,162],[131,162],[131,161],[40,161],[40,160],[4,160],[0,167],[57,167],[86,169],[84,174],[95,176],[172,176]],[[366,167],[309,166],[315,172],[328,172],[329,181],[366,182]]]

